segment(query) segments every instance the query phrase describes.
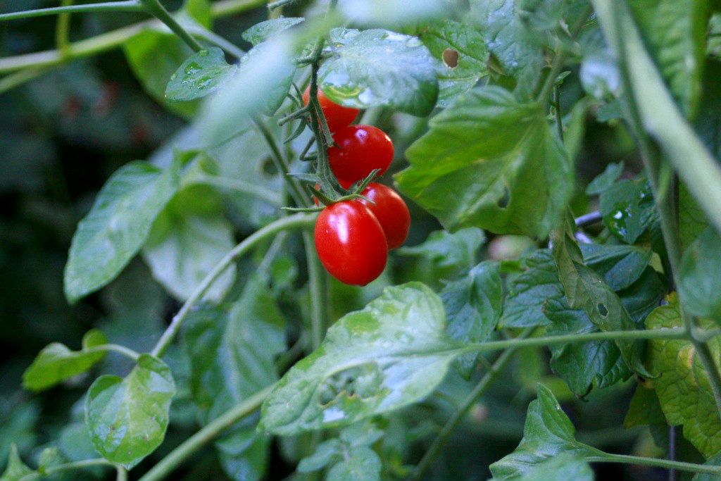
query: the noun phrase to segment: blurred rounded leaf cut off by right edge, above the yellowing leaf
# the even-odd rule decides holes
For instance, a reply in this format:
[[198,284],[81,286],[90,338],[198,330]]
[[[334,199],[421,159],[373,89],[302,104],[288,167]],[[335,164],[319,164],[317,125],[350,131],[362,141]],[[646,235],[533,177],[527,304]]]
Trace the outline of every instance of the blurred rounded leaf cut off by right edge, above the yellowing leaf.
[[721,237],[709,227],[684,252],[678,295],[694,316],[721,324]]

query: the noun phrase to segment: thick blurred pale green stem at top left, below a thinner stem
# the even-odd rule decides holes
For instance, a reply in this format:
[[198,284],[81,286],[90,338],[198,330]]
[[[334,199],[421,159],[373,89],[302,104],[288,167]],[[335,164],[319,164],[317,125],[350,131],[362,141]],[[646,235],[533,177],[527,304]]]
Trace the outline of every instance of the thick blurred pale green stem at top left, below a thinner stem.
[[[265,4],[265,0],[223,0],[212,4],[211,16],[213,18],[227,17],[232,14],[245,12]],[[28,67],[57,66],[76,58],[94,56],[98,53],[118,48],[129,38],[143,30],[159,27],[158,20],[146,20],[118,30],[111,30],[95,37],[71,43],[66,56],[59,50],[45,50],[43,52],[26,53],[24,55],[0,58],[0,74]]]

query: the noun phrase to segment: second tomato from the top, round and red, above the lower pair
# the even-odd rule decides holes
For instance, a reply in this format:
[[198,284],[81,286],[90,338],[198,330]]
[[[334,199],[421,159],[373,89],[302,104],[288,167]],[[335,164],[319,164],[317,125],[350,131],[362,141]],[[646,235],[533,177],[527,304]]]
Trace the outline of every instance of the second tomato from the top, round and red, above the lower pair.
[[328,149],[330,168],[344,182],[361,180],[381,169],[383,175],[393,161],[393,142],[373,125],[349,125],[333,135],[338,145]]

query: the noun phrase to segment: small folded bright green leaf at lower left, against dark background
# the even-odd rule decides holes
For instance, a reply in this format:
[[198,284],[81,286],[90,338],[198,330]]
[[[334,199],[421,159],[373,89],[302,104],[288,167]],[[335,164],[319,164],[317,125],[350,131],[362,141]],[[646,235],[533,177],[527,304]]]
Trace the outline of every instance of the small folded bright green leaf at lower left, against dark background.
[[89,330],[83,336],[82,349],[73,351],[61,343],[47,345],[22,375],[25,389],[38,392],[84,373],[105,357],[105,351],[88,352],[97,345],[106,344],[99,330]]

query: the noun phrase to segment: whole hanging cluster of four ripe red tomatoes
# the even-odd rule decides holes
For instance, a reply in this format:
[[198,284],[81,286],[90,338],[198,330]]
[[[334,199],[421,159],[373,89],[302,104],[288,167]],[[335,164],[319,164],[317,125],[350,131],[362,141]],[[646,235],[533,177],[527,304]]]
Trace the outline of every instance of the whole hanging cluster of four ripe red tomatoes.
[[[303,100],[308,104],[309,89]],[[328,160],[345,188],[373,170],[383,175],[393,161],[393,142],[373,125],[350,125],[358,110],[342,107],[318,92],[318,101],[337,146]],[[388,250],[403,244],[410,228],[410,213],[390,187],[371,182],[363,199],[343,200],[327,206],[318,216],[315,244],[323,267],[338,281],[365,286],[383,272]]]

